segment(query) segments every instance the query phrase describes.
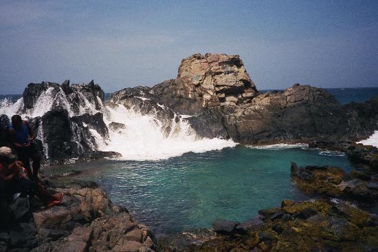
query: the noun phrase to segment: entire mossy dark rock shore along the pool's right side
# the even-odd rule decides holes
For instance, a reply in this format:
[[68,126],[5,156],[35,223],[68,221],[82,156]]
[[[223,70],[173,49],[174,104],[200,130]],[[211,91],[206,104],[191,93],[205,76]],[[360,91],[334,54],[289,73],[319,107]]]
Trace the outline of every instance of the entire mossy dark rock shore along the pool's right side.
[[258,211],[254,220],[219,220],[214,231],[163,239],[161,251],[377,251],[378,149],[315,145],[346,151],[358,168],[345,174],[340,167],[293,162],[291,178],[308,200],[282,200],[280,207]]

